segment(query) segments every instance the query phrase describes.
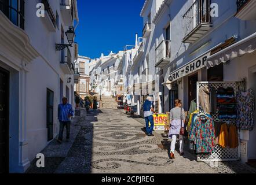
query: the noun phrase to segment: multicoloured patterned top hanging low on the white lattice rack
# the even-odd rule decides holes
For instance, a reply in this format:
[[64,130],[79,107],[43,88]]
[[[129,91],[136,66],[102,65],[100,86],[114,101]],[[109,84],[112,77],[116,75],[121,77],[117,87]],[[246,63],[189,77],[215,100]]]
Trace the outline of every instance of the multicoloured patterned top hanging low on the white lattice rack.
[[196,153],[211,153],[215,150],[215,129],[213,119],[199,116],[189,135],[189,140],[195,142]]

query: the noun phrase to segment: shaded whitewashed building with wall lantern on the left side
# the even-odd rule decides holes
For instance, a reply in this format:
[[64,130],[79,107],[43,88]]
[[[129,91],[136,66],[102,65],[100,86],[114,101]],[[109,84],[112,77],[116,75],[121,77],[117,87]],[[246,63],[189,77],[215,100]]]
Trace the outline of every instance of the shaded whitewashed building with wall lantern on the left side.
[[61,98],[74,102],[77,47],[57,49],[78,10],[76,0],[12,2],[0,1],[0,172],[20,173],[57,136]]

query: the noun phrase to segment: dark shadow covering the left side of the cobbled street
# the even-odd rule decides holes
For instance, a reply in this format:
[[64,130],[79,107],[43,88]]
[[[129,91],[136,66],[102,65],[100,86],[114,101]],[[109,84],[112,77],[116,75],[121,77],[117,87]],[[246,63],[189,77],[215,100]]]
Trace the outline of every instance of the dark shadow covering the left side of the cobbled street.
[[[38,168],[34,159],[26,173],[90,173],[93,147],[93,122],[98,121],[101,110],[86,111],[80,108],[79,115],[71,123],[70,140],[57,143],[53,139],[41,151],[45,156],[45,167]],[[65,129],[64,135],[65,138]]]

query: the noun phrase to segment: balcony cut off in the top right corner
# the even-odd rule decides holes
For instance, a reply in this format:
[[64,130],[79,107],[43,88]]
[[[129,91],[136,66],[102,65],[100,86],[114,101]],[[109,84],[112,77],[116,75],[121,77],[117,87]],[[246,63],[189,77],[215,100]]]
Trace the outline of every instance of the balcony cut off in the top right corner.
[[255,0],[237,0],[236,18],[240,20],[256,20],[256,1]]

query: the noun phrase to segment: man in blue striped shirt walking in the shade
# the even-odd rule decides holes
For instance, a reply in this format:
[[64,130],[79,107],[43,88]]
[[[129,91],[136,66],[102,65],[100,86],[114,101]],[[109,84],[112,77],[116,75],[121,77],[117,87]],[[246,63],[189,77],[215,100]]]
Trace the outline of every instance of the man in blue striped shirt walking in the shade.
[[70,139],[71,116],[74,116],[72,105],[68,103],[68,98],[62,98],[62,103],[58,105],[58,120],[60,121],[60,132],[58,134],[58,143],[62,143],[64,127],[67,130],[66,139]]

